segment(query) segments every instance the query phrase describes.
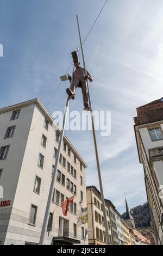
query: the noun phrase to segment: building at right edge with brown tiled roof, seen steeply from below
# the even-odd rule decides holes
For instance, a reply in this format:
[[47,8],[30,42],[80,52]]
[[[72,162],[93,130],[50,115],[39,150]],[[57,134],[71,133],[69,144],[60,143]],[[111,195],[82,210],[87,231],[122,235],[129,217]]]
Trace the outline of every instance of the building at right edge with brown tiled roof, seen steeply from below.
[[155,243],[163,245],[163,98],[137,108],[134,121]]

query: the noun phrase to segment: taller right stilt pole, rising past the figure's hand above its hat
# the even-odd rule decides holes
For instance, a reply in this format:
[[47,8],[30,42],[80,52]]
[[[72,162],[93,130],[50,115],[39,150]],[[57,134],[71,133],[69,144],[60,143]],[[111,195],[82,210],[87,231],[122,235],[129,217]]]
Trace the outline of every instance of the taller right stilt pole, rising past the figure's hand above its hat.
[[[78,32],[79,32],[79,39],[80,39],[80,48],[82,50],[83,65],[84,65],[84,70],[85,70],[85,75],[86,75],[87,72],[86,72],[86,67],[85,67],[85,59],[84,59],[84,52],[83,52],[83,45],[82,45],[82,36],[81,36],[81,33],[80,33],[78,15],[77,15],[77,23],[78,23]],[[110,245],[109,227],[108,227],[108,221],[107,221],[107,218],[106,218],[105,199],[104,199],[104,192],[103,192],[101,170],[100,170],[100,166],[99,166],[99,157],[98,157],[98,149],[97,149],[97,142],[96,142],[95,125],[94,125],[93,114],[92,114],[92,103],[91,103],[91,96],[90,96],[90,89],[89,89],[89,83],[88,82],[87,82],[87,88],[88,88],[88,95],[89,95],[89,104],[90,104],[90,112],[91,112],[91,120],[92,120],[93,140],[94,140],[95,153],[96,153],[96,162],[97,162],[97,170],[98,170],[99,187],[100,187],[101,200],[102,200],[102,205],[103,205],[103,214],[104,214],[104,223],[105,223],[105,232],[106,232],[106,242],[107,242],[108,245]]]

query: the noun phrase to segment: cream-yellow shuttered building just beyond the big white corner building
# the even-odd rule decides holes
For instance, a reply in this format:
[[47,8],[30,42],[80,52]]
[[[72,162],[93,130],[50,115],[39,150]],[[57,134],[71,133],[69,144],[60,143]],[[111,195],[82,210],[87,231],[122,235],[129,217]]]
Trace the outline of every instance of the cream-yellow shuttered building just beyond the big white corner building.
[[[97,190],[95,186],[87,186],[86,198],[88,212],[89,245],[107,245],[101,193]],[[109,227],[110,242],[112,244],[109,204],[107,202],[105,203],[105,210]]]

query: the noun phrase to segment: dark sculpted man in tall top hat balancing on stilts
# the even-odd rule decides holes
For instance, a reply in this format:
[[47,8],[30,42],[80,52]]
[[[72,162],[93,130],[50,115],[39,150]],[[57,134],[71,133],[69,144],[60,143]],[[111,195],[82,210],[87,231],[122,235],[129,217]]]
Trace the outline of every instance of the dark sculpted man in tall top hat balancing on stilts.
[[71,99],[74,100],[74,97],[76,96],[76,88],[81,87],[82,94],[83,94],[84,109],[89,111],[90,107],[89,107],[89,97],[88,97],[86,79],[89,79],[89,81],[92,82],[93,78],[91,77],[88,71],[87,71],[87,74],[85,74],[84,68],[80,67],[78,53],[75,51],[75,52],[72,52],[71,54],[72,54],[73,63],[76,70],[73,72],[72,77],[68,75],[68,80],[71,83],[70,83],[70,88],[66,89],[66,93],[70,96]]

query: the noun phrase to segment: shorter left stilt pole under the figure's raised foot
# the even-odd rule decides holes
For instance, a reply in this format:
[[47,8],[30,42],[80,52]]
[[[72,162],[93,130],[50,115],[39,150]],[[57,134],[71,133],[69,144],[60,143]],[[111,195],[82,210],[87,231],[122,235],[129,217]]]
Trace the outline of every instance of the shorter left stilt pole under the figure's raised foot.
[[[78,52],[78,50],[79,50],[79,47],[77,48],[77,52]],[[73,67],[73,71],[74,71],[74,67]],[[72,71],[72,75],[73,75],[73,71]],[[55,180],[56,180],[56,177],[57,177],[57,170],[58,170],[59,157],[60,157],[60,152],[61,152],[61,145],[62,145],[62,141],[63,141],[63,138],[64,138],[64,132],[65,132],[65,125],[66,125],[69,102],[70,102],[70,98],[69,98],[69,96],[67,96],[64,120],[63,120],[61,135],[60,135],[60,139],[59,139],[57,156],[56,156],[56,159],[55,159],[54,171],[53,171],[53,176],[52,176],[52,181],[51,181],[51,187],[50,187],[50,190],[49,190],[49,195],[48,195],[48,200],[47,200],[47,205],[46,205],[46,210],[45,210],[45,216],[44,216],[43,224],[42,224],[42,230],[41,230],[39,245],[44,245],[45,244],[45,236],[46,236],[46,231],[47,231],[49,214],[50,214],[50,210],[51,210],[51,203],[52,203],[53,192],[54,192],[54,187],[55,187],[54,186],[55,185]]]

